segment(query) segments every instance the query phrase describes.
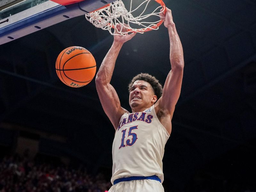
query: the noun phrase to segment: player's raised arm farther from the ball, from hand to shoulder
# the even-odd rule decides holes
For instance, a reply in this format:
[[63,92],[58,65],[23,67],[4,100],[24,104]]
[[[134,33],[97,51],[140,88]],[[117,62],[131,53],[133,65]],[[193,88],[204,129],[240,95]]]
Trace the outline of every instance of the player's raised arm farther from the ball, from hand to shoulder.
[[172,12],[166,8],[166,14],[160,14],[164,20],[164,26],[168,28],[170,38],[170,61],[172,70],[169,72],[163,88],[163,96],[159,99],[159,108],[169,113],[171,119],[175,105],[180,97],[183,77],[184,58],[183,49],[175,24],[172,20]]

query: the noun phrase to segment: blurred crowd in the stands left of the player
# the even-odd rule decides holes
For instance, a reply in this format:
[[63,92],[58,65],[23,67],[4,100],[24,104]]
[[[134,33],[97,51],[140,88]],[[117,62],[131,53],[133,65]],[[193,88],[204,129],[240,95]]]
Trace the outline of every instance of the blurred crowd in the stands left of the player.
[[58,166],[18,155],[0,162],[0,192],[105,192],[111,185],[102,173],[93,176],[82,165]]

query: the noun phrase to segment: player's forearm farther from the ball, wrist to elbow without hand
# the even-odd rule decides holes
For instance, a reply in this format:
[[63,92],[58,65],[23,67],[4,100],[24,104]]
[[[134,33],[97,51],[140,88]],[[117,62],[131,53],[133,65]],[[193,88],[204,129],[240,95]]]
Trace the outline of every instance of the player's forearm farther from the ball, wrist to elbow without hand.
[[180,37],[175,28],[175,24],[172,22],[168,25],[169,38],[170,38],[170,60],[172,69],[184,67],[184,57],[182,44]]

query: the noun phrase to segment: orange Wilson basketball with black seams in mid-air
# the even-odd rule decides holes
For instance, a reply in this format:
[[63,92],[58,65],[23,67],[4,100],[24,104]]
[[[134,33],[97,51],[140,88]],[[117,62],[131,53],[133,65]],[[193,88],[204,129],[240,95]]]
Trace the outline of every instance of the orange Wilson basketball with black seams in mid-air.
[[92,81],[96,73],[96,61],[87,49],[72,46],[60,52],[55,69],[64,84],[78,88]]

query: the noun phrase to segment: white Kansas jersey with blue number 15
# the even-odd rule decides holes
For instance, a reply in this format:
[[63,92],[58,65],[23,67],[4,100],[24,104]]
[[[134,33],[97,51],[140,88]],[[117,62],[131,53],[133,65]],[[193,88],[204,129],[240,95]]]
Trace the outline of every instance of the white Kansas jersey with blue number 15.
[[125,113],[112,146],[111,183],[121,177],[156,175],[164,180],[164,146],[170,137],[156,116],[154,105],[144,112]]

